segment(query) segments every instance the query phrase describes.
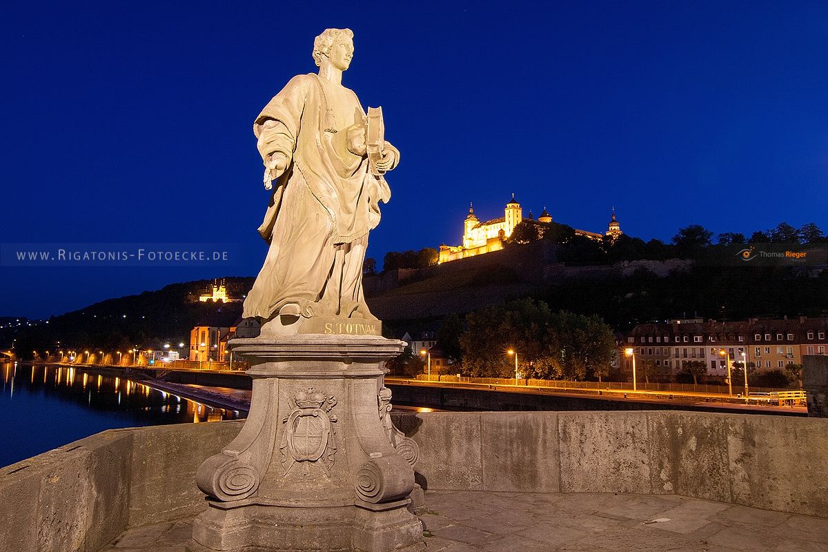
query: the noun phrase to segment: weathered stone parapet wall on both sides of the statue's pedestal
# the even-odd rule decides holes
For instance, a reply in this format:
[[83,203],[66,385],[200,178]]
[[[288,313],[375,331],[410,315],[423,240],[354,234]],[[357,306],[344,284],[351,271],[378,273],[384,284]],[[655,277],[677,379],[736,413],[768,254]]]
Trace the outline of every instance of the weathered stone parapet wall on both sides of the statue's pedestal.
[[[395,415],[431,490],[678,494],[828,517],[828,419],[683,411]],[[243,421],[108,430],[0,469],[0,550],[99,550],[205,508]],[[427,497],[426,497],[427,499]]]

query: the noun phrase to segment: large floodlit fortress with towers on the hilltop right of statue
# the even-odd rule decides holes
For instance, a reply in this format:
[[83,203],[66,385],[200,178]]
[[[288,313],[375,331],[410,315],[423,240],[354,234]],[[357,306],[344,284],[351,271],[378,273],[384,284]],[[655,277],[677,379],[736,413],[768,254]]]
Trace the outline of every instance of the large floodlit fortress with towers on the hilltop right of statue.
[[[532,219],[532,211],[529,212],[529,216],[527,218]],[[457,259],[474,257],[475,255],[482,255],[483,253],[503,249],[503,241],[512,235],[515,227],[521,223],[522,220],[523,209],[520,204],[517,203],[515,194],[512,194],[512,199],[510,199],[506,204],[503,217],[492,218],[484,223],[480,222],[480,219],[474,214],[474,207],[469,204],[469,214],[463,221],[462,245],[440,245],[439,262],[456,261]],[[537,218],[537,222],[552,222],[552,217],[546,212],[546,208],[543,209],[541,216]],[[604,236],[618,238],[622,233],[621,225],[618,219],[615,218],[614,209],[607,231],[603,234],[587,232],[586,230],[579,230],[575,228],[576,235],[595,240],[601,240]]]

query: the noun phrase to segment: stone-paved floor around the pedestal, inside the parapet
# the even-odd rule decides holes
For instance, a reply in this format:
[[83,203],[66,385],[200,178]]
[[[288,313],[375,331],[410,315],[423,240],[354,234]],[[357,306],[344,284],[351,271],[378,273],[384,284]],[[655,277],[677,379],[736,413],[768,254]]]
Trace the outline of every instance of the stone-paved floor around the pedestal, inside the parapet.
[[[670,495],[426,492],[428,552],[828,552],[828,519]],[[102,552],[181,552],[190,521]]]

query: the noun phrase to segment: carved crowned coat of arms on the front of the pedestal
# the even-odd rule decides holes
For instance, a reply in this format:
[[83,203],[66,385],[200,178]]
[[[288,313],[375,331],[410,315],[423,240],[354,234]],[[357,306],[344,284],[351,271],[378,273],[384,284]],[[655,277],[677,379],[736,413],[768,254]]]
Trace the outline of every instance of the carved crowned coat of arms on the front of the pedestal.
[[336,453],[335,430],[331,425],[336,415],[330,414],[330,410],[335,405],[333,395],[325,396],[313,387],[299,391],[288,401],[291,413],[282,419],[286,427],[279,445],[285,475],[298,462],[303,477],[310,477],[311,463],[319,463],[325,475],[330,476]]

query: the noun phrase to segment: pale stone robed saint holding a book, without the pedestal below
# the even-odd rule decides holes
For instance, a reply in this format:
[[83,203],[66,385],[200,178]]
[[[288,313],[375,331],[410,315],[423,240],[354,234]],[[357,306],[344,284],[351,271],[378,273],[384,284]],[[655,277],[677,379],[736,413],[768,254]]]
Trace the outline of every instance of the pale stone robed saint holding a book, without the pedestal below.
[[366,115],[342,85],[353,36],[349,29],[317,36],[319,74],[291,79],[253,123],[273,192],[259,228],[270,248],[243,316],[263,319],[262,334],[379,334],[362,268],[379,202],[391,196],[383,175],[400,154],[384,141],[382,111]]

